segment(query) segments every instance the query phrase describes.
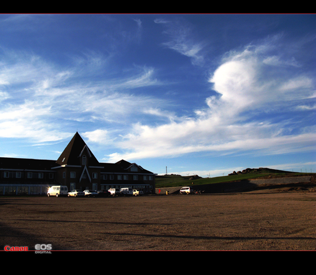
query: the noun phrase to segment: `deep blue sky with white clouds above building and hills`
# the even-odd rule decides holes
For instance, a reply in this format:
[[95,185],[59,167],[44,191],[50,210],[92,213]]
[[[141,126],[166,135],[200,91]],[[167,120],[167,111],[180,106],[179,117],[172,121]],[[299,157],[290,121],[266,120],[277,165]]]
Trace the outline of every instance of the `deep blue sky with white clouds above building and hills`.
[[0,157],[316,172],[315,14],[0,14]]

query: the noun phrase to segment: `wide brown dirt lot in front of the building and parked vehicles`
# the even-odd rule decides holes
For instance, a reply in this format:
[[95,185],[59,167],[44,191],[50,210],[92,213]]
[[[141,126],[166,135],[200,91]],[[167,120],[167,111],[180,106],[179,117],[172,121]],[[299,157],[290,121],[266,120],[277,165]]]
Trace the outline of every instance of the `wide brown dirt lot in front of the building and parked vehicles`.
[[[316,193],[0,197],[0,250],[316,250]],[[9,253],[9,252],[8,252]]]

